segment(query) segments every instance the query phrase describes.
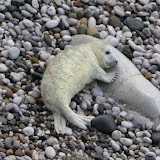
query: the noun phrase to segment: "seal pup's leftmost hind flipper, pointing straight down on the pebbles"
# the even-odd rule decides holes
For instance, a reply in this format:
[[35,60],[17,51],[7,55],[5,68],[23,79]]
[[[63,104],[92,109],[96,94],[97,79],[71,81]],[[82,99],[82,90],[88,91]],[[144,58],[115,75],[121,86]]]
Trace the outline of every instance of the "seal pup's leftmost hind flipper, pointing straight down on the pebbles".
[[66,131],[66,120],[65,118],[58,114],[54,113],[54,128],[58,134],[65,134]]

